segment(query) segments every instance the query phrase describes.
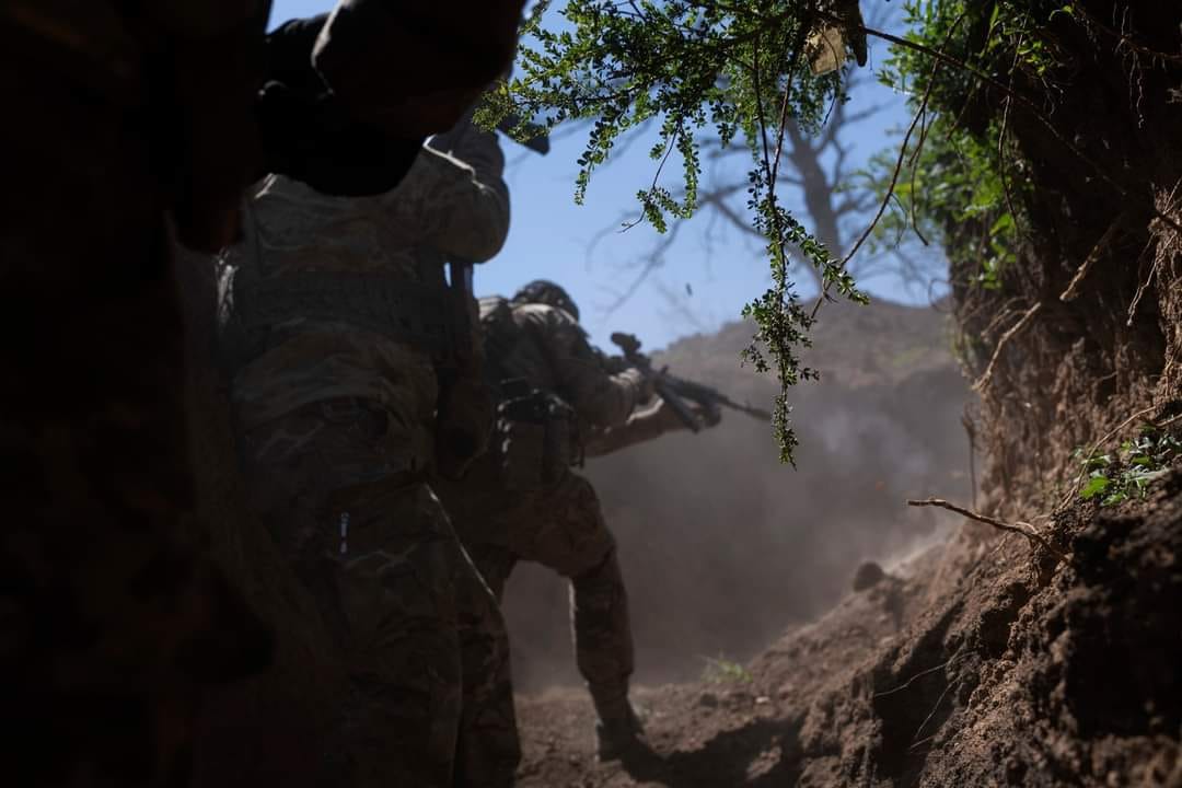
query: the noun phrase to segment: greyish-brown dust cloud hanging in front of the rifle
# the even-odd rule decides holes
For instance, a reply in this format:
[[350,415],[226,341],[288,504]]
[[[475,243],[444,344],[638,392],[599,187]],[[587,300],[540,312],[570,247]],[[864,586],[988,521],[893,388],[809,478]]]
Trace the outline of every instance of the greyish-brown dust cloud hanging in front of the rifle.
[[[767,405],[775,386],[739,365],[751,327],[693,337],[661,354],[682,377]],[[728,412],[587,463],[619,543],[637,649],[636,682],[687,680],[708,658],[746,660],[849,592],[865,560],[890,562],[949,527],[908,497],[968,501],[969,391],[943,315],[891,304],[834,307],[793,392],[799,469],[780,465],[768,425]],[[579,682],[566,584],[520,565],[506,594],[519,691]]]

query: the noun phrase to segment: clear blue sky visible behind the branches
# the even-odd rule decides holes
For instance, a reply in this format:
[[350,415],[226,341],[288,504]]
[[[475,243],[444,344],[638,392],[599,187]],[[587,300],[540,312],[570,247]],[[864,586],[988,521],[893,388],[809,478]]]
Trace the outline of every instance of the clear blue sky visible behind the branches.
[[[333,5],[332,0],[275,0],[272,21],[322,13]],[[884,44],[871,43],[871,64],[885,54]],[[855,162],[890,144],[889,130],[907,121],[902,102],[885,89],[870,85],[853,97],[855,106],[871,103],[889,106],[851,131],[847,139]],[[704,215],[689,220],[665,254],[667,265],[609,313],[608,307],[635,278],[639,256],[660,240],[647,224],[617,229],[623,219],[635,217],[636,191],[651,182],[656,165],[648,158],[649,145],[631,146],[619,161],[596,172],[580,207],[574,204],[573,191],[583,142],[582,135],[556,139],[550,155],[541,157],[502,139],[513,226],[501,254],[476,268],[478,294],[511,294],[532,279],[553,279],[579,302],[583,323],[598,344],[605,344],[612,331],[629,331],[647,347],[657,349],[738,319],[743,304],[766,289],[767,266],[756,245],[719,224],[708,229]],[[669,183],[676,185],[677,168],[669,172]],[[909,292],[892,276],[879,276],[866,287],[891,300],[926,300],[923,288]]]

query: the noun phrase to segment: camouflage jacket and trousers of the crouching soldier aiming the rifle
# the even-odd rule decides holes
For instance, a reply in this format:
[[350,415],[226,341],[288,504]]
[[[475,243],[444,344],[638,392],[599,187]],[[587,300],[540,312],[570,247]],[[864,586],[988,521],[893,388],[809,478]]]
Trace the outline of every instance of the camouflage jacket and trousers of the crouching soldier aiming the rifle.
[[[578,431],[623,428],[643,398],[639,372],[612,373],[577,320],[545,304],[481,301],[491,375],[554,392],[573,409]],[[500,599],[518,561],[538,561],[571,579],[579,672],[600,719],[629,719],[632,637],[616,542],[591,483],[564,458],[538,484],[507,480],[499,452],[481,458],[462,483],[441,482],[456,532]]]

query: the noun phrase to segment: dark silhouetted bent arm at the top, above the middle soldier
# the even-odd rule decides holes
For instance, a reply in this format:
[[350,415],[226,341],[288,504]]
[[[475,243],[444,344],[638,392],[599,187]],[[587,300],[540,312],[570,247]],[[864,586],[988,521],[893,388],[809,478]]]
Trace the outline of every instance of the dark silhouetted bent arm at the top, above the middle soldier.
[[525,0],[340,0],[313,53],[357,119],[443,131],[504,73]]

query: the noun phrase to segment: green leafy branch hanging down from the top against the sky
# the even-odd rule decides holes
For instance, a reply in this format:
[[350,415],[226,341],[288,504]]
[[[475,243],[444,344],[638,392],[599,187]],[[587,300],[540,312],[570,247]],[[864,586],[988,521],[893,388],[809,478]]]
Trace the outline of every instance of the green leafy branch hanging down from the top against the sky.
[[[860,15],[856,2],[824,5],[567,0],[557,15],[535,14],[528,22],[518,77],[494,91],[478,117],[491,123],[512,113],[544,126],[589,121],[577,202],[613,150],[654,125],[657,139],[649,152],[656,172],[637,200],[643,221],[660,232],[697,208],[703,144],[746,143],[747,203],[752,227],[765,241],[772,287],[745,308],[756,324],[745,359],[764,372],[774,369],[780,380],[774,429],[785,462],[793,461],[797,447],[788,388],[816,377],[799,360],[813,319],[788,278],[790,259],[817,271],[823,288],[865,301],[840,260],[784,207],[777,190],[790,128],[816,133],[826,110],[845,100],[843,72],[817,76],[812,63],[832,41],[820,32],[834,25],[856,31]],[[524,126],[519,131],[531,133]],[[678,189],[662,180],[674,162],[681,164]]]

